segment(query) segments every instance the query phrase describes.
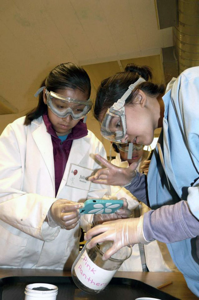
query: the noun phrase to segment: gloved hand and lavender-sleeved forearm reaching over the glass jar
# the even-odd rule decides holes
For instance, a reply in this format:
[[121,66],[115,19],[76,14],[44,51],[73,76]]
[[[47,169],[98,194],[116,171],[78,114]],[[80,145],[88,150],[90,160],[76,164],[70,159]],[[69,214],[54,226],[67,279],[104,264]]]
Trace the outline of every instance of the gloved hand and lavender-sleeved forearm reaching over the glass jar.
[[103,255],[105,260],[127,245],[148,244],[154,239],[173,243],[196,237],[198,233],[198,219],[191,214],[187,202],[180,201],[151,210],[139,218],[105,222],[89,230],[85,239],[91,239],[89,249],[97,243],[113,241]]

